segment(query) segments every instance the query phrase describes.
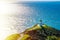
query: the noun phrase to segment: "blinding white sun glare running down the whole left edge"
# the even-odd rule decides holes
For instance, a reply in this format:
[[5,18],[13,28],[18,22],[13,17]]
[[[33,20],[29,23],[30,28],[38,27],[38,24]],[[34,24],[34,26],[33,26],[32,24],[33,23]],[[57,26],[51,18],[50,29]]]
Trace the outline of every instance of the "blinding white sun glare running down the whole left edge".
[[8,15],[17,13],[17,6],[8,1],[0,1],[0,40],[12,33],[8,27]]

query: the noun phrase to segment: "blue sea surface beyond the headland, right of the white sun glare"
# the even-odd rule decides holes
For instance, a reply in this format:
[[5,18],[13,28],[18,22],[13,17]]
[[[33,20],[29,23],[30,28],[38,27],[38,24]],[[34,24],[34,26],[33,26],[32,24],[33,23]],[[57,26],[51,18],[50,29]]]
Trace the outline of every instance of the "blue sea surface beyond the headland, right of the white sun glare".
[[19,2],[18,4],[28,8],[22,15],[26,18],[25,26],[31,27],[42,20],[44,24],[60,30],[60,2]]

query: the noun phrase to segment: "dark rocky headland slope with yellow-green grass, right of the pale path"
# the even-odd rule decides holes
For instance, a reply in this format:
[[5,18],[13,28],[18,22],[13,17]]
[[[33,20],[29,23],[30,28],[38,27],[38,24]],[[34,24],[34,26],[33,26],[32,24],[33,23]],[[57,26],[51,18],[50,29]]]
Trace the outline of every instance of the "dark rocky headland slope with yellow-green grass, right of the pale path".
[[60,30],[56,30],[47,25],[39,24],[28,28],[23,32],[24,36],[21,40],[60,40]]

